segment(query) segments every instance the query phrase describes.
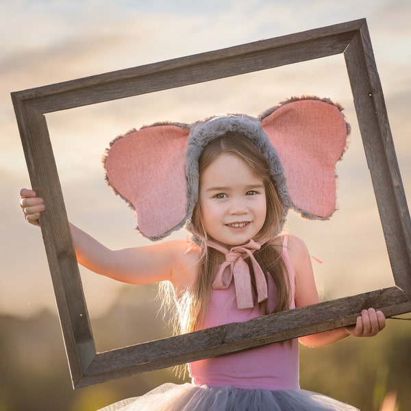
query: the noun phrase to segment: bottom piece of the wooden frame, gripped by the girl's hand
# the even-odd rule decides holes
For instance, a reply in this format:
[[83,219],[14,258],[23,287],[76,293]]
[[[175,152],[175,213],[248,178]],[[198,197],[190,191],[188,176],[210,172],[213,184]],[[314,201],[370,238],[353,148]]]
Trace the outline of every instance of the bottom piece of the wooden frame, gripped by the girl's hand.
[[80,386],[344,327],[355,323],[361,310],[369,307],[391,316],[410,312],[411,301],[401,290],[392,287],[270,314],[247,323],[232,323],[98,353]]

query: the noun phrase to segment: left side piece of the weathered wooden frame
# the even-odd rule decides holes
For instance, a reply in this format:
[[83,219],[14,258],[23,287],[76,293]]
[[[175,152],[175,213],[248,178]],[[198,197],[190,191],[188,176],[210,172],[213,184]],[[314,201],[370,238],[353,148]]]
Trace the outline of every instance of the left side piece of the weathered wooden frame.
[[14,99],[32,187],[45,199],[41,230],[73,381],[95,358],[95,344],[45,116]]

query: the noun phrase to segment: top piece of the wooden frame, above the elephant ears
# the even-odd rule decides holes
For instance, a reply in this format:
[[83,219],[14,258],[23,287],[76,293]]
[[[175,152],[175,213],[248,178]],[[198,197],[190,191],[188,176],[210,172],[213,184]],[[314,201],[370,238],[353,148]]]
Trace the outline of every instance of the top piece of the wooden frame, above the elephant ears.
[[47,113],[343,53],[362,20],[18,92]]

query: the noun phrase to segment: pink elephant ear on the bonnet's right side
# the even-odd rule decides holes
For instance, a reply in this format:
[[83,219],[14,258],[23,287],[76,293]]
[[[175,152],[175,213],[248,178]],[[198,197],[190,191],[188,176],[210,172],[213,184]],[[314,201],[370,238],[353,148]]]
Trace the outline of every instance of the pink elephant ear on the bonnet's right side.
[[291,99],[260,116],[277,150],[292,208],[309,219],[336,210],[336,162],[347,145],[342,108],[327,99]]

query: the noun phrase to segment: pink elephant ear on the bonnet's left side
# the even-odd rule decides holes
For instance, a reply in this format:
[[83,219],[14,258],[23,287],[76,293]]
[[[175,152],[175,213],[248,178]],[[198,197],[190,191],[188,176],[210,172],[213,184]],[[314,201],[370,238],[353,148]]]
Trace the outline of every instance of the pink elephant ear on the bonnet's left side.
[[153,125],[119,136],[103,159],[106,180],[136,211],[137,229],[158,240],[186,221],[188,128]]

